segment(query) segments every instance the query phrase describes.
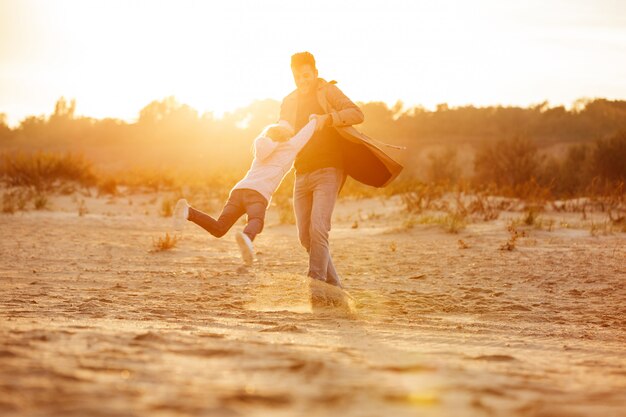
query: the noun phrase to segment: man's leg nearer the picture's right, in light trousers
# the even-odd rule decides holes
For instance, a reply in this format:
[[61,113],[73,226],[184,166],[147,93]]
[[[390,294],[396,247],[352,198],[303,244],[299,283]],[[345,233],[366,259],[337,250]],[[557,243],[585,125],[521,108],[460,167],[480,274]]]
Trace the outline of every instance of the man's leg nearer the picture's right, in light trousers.
[[[332,265],[328,235],[342,178],[343,171],[337,168],[322,168],[311,174],[313,203],[309,227],[309,275],[322,281],[326,281],[329,266]],[[331,270],[334,271],[334,266]],[[335,271],[331,281],[336,281],[336,275]]]

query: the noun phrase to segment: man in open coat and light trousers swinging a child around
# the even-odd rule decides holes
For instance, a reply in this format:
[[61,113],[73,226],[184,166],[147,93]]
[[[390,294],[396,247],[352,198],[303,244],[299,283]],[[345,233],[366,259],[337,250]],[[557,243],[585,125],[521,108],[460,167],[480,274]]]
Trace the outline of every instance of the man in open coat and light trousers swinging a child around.
[[342,287],[328,245],[331,217],[346,175],[382,187],[402,170],[352,125],[363,112],[335,85],[318,77],[309,52],[291,57],[296,90],[283,100],[280,122],[296,131],[316,118],[316,130],[294,162],[293,204],[300,243],[309,253],[308,275]]

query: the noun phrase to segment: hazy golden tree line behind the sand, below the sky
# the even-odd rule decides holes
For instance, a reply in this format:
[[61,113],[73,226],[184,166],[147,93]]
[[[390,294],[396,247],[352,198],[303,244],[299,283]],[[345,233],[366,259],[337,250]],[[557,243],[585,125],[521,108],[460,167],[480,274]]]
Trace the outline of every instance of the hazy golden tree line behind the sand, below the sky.
[[[530,106],[405,108],[401,102],[359,103],[359,128],[405,151],[390,152],[405,176],[515,187],[538,181],[576,194],[594,179],[626,179],[626,101],[578,100],[570,109]],[[155,100],[136,121],[77,116],[61,98],[49,116],[29,116],[11,128],[0,115],[0,150],[75,152],[109,169],[134,166],[245,170],[251,143],[276,122],[280,103],[260,100],[216,117],[174,97]]]

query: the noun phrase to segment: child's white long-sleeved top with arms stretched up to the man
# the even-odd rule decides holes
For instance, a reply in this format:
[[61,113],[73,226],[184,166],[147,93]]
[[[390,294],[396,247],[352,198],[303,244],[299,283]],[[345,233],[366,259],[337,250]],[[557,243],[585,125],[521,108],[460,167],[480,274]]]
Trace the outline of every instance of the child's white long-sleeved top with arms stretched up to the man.
[[264,136],[254,140],[254,160],[246,176],[235,189],[258,191],[268,204],[285,175],[291,170],[296,155],[315,132],[316,120],[311,120],[286,142],[275,142]]

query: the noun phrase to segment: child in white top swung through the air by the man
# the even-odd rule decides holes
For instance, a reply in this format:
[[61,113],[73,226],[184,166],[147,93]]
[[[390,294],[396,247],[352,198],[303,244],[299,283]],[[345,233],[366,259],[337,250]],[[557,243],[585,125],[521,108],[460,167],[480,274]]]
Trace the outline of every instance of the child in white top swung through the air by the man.
[[250,170],[230,191],[219,218],[215,220],[181,199],[174,209],[174,228],[182,230],[184,220],[189,220],[220,238],[247,214],[247,225],[243,233],[237,233],[236,240],[244,262],[251,265],[254,259],[252,241],[263,230],[265,211],[272,194],[291,169],[296,154],[313,136],[316,123],[317,119],[312,117],[295,136],[293,129],[283,124],[266,127],[254,140],[254,160]]

